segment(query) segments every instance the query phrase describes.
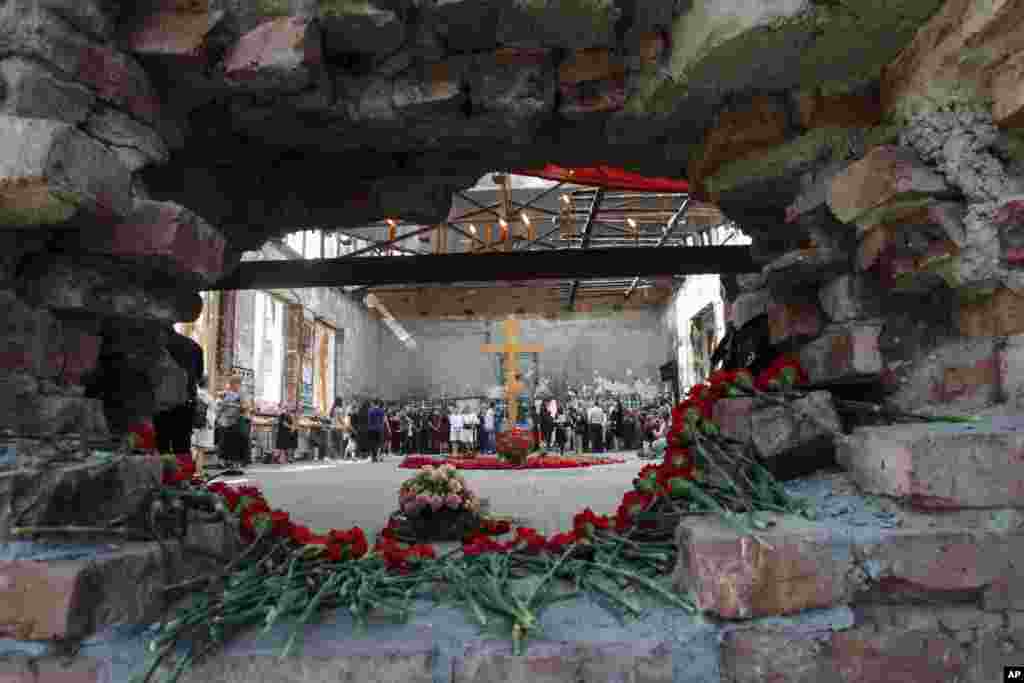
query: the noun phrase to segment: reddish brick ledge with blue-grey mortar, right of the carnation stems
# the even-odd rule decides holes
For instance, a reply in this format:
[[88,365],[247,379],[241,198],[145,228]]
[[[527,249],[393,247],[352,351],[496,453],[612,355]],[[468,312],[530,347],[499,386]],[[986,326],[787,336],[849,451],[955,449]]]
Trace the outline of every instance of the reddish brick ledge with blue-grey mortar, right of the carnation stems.
[[[867,502],[844,498],[850,507]],[[723,618],[923,598],[990,608],[1018,604],[1021,513],[880,514],[885,523],[768,516],[775,525],[759,532],[768,545],[715,518],[687,520],[677,535],[674,582],[700,609]]]

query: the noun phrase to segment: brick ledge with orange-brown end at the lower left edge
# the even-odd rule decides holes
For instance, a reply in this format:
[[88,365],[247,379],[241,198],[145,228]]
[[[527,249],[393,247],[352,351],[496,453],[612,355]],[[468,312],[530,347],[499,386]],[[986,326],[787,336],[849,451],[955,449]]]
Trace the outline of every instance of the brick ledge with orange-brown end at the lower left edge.
[[153,542],[93,546],[75,559],[0,560],[0,635],[79,640],[114,625],[151,624],[167,607],[164,586],[210,570],[207,553],[229,557],[238,549],[221,524],[193,525],[184,550],[176,541],[165,546],[169,557]]

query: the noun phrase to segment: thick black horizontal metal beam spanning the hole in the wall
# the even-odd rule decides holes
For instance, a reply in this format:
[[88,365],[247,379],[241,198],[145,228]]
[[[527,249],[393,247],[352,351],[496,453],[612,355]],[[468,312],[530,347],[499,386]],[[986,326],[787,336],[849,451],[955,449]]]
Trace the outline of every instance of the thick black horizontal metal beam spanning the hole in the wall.
[[[628,254],[628,256],[626,256]],[[760,272],[751,248],[634,247],[497,254],[246,261],[211,290]]]

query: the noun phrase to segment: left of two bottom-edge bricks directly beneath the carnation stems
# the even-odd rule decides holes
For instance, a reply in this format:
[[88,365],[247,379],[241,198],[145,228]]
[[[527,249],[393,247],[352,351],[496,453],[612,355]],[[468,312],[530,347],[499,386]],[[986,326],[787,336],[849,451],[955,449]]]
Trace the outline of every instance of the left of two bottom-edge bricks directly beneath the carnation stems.
[[330,628],[316,628],[304,635],[301,655],[281,659],[276,652],[267,651],[265,646],[260,646],[258,631],[251,631],[232,639],[223,653],[185,673],[181,681],[182,683],[205,681],[306,683],[312,680],[431,683],[433,681],[432,638],[418,636],[379,641],[349,638],[349,633],[336,633]]

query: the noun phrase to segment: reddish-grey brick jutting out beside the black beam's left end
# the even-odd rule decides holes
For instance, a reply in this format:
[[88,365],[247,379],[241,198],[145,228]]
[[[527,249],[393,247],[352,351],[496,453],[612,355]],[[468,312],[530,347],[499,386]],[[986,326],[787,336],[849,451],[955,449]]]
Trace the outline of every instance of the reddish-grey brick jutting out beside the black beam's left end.
[[126,220],[89,234],[86,251],[134,260],[193,283],[224,273],[227,241],[188,209],[172,202],[136,202]]

